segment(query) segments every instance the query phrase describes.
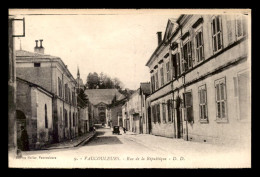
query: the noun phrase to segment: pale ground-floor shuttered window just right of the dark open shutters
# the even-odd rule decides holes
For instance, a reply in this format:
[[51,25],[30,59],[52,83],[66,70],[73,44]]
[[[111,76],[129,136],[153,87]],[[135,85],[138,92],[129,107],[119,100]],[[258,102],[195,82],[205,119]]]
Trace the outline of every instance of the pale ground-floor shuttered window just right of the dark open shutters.
[[199,87],[199,117],[201,121],[207,121],[207,90],[206,85]]

